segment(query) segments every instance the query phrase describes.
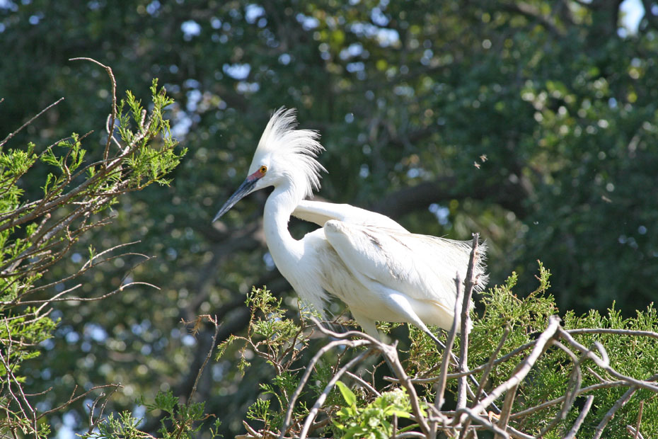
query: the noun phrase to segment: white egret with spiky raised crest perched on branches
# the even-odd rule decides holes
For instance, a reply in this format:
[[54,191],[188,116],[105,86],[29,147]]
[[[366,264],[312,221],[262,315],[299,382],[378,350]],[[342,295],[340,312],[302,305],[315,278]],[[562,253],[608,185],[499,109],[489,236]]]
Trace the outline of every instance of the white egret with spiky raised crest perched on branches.
[[[442,345],[428,325],[450,331],[459,319],[454,279],[457,273],[465,278],[471,241],[415,234],[376,212],[308,200],[320,189],[321,172],[327,172],[318,162],[325,149],[318,132],[297,126],[294,108],[272,114],[246,179],[212,222],[246,195],[273,186],[263,212],[265,241],[303,302],[324,316],[330,296],[337,297],[370,336],[381,340],[377,321],[406,322]],[[295,239],[288,229],[291,216],[319,227]],[[483,244],[480,253],[485,251]],[[482,290],[483,257],[474,273],[475,290]]]

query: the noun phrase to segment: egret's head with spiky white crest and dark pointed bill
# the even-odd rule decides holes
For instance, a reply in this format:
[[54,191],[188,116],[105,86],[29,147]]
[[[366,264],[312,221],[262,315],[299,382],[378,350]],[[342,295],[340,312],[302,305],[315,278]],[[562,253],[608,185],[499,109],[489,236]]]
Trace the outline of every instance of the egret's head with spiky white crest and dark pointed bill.
[[247,178],[226,200],[213,222],[228,212],[239,200],[255,190],[268,186],[289,185],[299,201],[320,188],[320,171],[326,171],[316,157],[324,148],[320,135],[312,130],[296,130],[294,108],[275,111],[262,132],[253,155]]

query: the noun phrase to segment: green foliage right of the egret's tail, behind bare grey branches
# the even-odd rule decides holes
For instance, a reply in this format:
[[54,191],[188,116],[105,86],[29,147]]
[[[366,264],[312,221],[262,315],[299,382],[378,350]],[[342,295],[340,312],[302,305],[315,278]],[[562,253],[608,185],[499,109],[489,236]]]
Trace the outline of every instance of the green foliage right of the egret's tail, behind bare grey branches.
[[[519,299],[513,294],[512,288],[516,284],[517,276],[513,274],[504,285],[496,286],[483,293],[485,311],[481,318],[474,321],[473,333],[471,333],[471,344],[469,346],[469,362],[471,364],[486,363],[493,349],[500,341],[504,328],[509,326],[507,336],[499,357],[511,353],[516,348],[531,343],[537,334],[546,328],[546,322],[550,315],[558,312],[555,301],[548,294],[547,289],[550,273],[543,264],[539,263],[538,288],[524,299]],[[658,317],[652,305],[646,311],[637,311],[637,317],[624,319],[621,312],[611,308],[607,315],[602,315],[591,310],[589,313],[577,317],[575,312],[565,313],[562,326],[567,329],[625,329],[630,331],[652,331],[657,332]],[[611,360],[612,367],[623,375],[637,377],[647,380],[655,373],[655,359],[658,358],[658,340],[647,336],[630,336],[613,333],[575,334],[575,339],[583,346],[594,349],[594,342],[598,341],[606,349]],[[517,355],[526,355],[524,353]],[[516,362],[505,362],[495,365],[490,375],[492,386],[500,384],[514,371]],[[591,386],[600,382],[599,377],[614,381],[612,377],[601,367],[595,365],[591,360],[585,360],[580,365],[582,369],[582,387]],[[593,372],[589,372],[592,370]],[[524,381],[519,387],[519,395],[514,402],[512,413],[529,409],[539,404],[562,397],[572,385],[572,374],[575,366],[564,351],[557,348],[549,348],[538,360],[531,372],[531,378]],[[596,375],[595,375],[596,374]],[[594,406],[580,431],[584,437],[594,433],[598,421],[606,414],[606,411],[615,404],[618,398],[627,390],[625,387],[610,387],[596,389],[588,394],[594,395]],[[587,394],[586,394],[587,395]],[[584,400],[584,397],[577,399]],[[655,394],[648,391],[639,391],[628,404],[617,412],[613,420],[608,424],[606,437],[623,437],[627,425],[637,423],[640,401],[643,401],[642,433],[649,437],[658,433],[658,399]],[[556,404],[548,409],[535,411],[515,420],[518,428],[529,434],[538,434],[544,426],[557,416],[562,408]],[[574,409],[567,418],[560,423],[560,428],[546,435],[547,438],[560,438],[564,430],[568,431],[575,421],[579,411]]]

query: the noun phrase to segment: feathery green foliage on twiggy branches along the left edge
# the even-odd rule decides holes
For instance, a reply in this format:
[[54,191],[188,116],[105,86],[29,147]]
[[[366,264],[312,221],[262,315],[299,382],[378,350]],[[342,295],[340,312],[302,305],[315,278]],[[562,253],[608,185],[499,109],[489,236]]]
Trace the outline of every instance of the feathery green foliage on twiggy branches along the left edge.
[[[50,423],[45,415],[64,409],[93,390],[76,395],[76,389],[71,387],[69,394],[72,390],[73,395],[68,400],[57,401],[52,410],[43,413],[38,409],[38,398],[50,390],[26,396],[23,386],[28,377],[21,374],[25,362],[40,356],[42,343],[57,331],[61,320],[49,315],[54,303],[102,298],[71,297],[71,291],[81,284],[68,288],[64,285],[116,256],[100,259],[100,255],[112,249],[98,254],[89,246],[89,259],[83,266],[63,273],[59,279],[49,277],[44,281],[45,275],[50,276],[57,263],[71,256],[71,249],[81,236],[108,224],[108,217],[100,214],[101,211],[129,191],[153,182],[166,183],[163,177],[185,154],[185,150],[175,150],[177,142],[171,137],[169,122],[162,118],[163,108],[173,101],[156,84],[154,81],[151,89],[150,112],[127,92],[132,115],[123,114],[123,104],[120,106],[119,130],[130,133],[127,125],[137,123],[139,132],[130,138],[123,137],[124,144],[114,142],[111,146],[118,152],[110,154],[108,141],[102,159],[90,162],[88,157],[93,154],[88,154],[82,142],[87,135],[76,133],[40,152],[33,142],[25,149],[0,149],[0,378],[3,380],[0,407],[4,414],[0,431],[3,433],[16,435],[20,430],[25,435],[46,437],[50,434]],[[117,109],[111,111],[115,115]],[[0,148],[17,132],[6,137]],[[25,181],[39,180],[40,172],[45,175],[41,180],[41,198],[31,200],[23,186]],[[130,285],[124,283],[106,295]],[[203,418],[202,411],[202,404],[177,406],[175,415],[181,419],[180,431],[192,431],[192,423]],[[170,414],[174,416],[173,411]],[[110,416],[101,424],[98,437],[143,437],[135,433],[138,423],[127,412],[117,418]]]

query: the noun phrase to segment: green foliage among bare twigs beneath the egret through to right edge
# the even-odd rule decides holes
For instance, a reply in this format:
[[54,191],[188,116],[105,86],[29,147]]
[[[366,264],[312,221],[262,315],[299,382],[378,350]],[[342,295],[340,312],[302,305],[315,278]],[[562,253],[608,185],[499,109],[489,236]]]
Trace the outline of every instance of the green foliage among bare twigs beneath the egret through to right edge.
[[[483,314],[473,316],[474,326],[469,345],[469,365],[471,367],[483,365],[490,360],[492,355],[495,355],[495,358],[507,358],[507,360],[498,361],[493,365],[485,389],[492,389],[509,379],[517,370],[521,360],[528,355],[538,333],[546,329],[548,317],[558,313],[555,300],[548,292],[550,287],[549,278],[549,270],[539,263],[538,275],[536,276],[538,287],[526,297],[521,299],[514,295],[514,288],[518,280],[516,273],[511,275],[503,285],[492,287],[490,290],[483,292]],[[248,303],[252,311],[250,327],[254,329],[263,327],[259,315],[275,315],[277,319],[287,321],[287,317],[281,312],[280,301],[272,297],[271,292],[268,290],[264,288],[253,290],[248,297]],[[260,314],[263,312],[267,314]],[[292,322],[289,324],[292,324]],[[567,331],[576,331],[582,328],[647,331],[647,335],[574,333],[573,336],[583,346],[593,348],[595,341],[601,343],[608,353],[613,369],[623,375],[647,380],[655,373],[655,358],[658,358],[658,341],[655,338],[655,334],[658,333],[658,313],[653,307],[649,307],[645,312],[637,312],[637,317],[632,319],[624,319],[621,313],[614,308],[610,309],[607,315],[592,311],[577,317],[574,312],[567,312],[562,326]],[[240,339],[245,343],[243,353],[247,347],[255,349],[255,346],[267,346],[266,341],[261,340],[265,336],[272,337],[273,346],[290,346],[293,339],[308,337],[308,335],[292,331],[272,332],[269,327],[265,327],[267,329],[264,331],[250,331],[250,336],[247,338],[236,338],[236,340]],[[306,326],[304,319],[301,328],[306,333],[311,329],[310,326]],[[506,331],[506,328],[509,331]],[[505,332],[507,332],[507,336],[504,338],[504,343],[500,344],[500,350],[496,350]],[[287,333],[288,343],[284,338],[277,335],[280,333]],[[412,338],[412,349],[408,352],[408,359],[405,361],[406,372],[417,377],[435,376],[438,368],[437,362],[441,360],[441,353],[437,353],[436,346],[425,343],[421,339],[420,333],[415,329],[410,328],[410,336]],[[558,343],[558,339],[555,342]],[[259,343],[265,344],[259,345]],[[569,348],[570,345],[564,343],[563,346]],[[307,343],[301,346],[300,349],[306,350],[307,348],[312,348],[308,338]],[[577,356],[582,354],[574,348],[572,350]],[[454,351],[458,353],[457,346]],[[255,431],[277,434],[277,429],[280,428],[285,411],[289,406],[289,397],[299,385],[299,380],[304,371],[304,361],[302,360],[304,356],[300,352],[298,354],[299,360],[284,363],[281,360],[275,360],[276,355],[281,355],[281,352],[276,350],[273,352],[275,352],[274,356],[267,353],[265,349],[262,349],[260,354],[257,353],[258,356],[267,359],[267,364],[270,365],[270,370],[274,376],[270,378],[272,384],[260,384],[262,394],[248,409],[246,419],[257,422],[255,425],[251,424],[250,427]],[[316,364],[311,380],[304,387],[304,404],[300,404],[300,401],[298,401],[294,408],[292,426],[290,427],[293,432],[299,431],[306,416],[308,416],[306,407],[323,392],[329,380],[332,379],[338,367],[340,367],[340,363],[345,361],[346,356],[349,358],[350,355],[357,355],[357,353],[358,350],[352,353],[348,350],[341,353],[336,360]],[[429,360],[432,358],[434,360]],[[251,367],[257,366],[246,366],[244,372],[248,372]],[[376,372],[376,366],[364,365],[363,367],[365,370],[364,373],[361,373],[362,378],[371,378]],[[582,374],[580,388],[585,389],[585,392],[575,399],[575,406],[570,408],[565,418],[558,418],[558,421],[554,422],[553,420],[562,409],[562,402],[559,398],[563,397],[569,389],[572,389],[575,384],[574,379],[577,370]],[[565,353],[565,350],[556,346],[547,346],[533,365],[529,375],[516,389],[517,394],[512,405],[510,425],[519,431],[535,436],[539,435],[543,428],[551,426],[548,432],[543,433],[543,437],[560,438],[575,422],[584,397],[591,394],[594,396],[595,404],[589,411],[579,432],[579,435],[584,435],[584,437],[591,436],[606,412],[628,389],[628,383],[609,386],[600,385],[601,377],[608,380],[608,382],[615,382],[616,380],[615,377],[609,375],[606,370],[594,364],[591,360],[579,360],[576,365],[572,358]],[[479,376],[476,375],[476,378],[479,378]],[[456,380],[449,380],[449,392],[456,390],[455,383]],[[381,383],[375,381],[370,384],[379,389],[381,395],[376,396],[360,389],[354,391],[344,382],[336,382],[337,389],[330,392],[323,405],[323,411],[326,419],[330,422],[329,427],[333,431],[331,433],[333,437],[348,439],[388,438],[393,433],[419,431],[418,424],[410,423],[410,421],[400,422],[399,426],[395,427],[400,419],[412,417],[410,399],[403,388],[399,387],[398,384],[388,384],[388,386],[382,387]],[[594,386],[594,384],[598,385]],[[436,389],[427,384],[419,384],[416,388],[423,388],[422,393],[420,393],[420,404],[425,413],[427,411],[425,401],[434,400]],[[550,404],[543,409],[536,409],[541,404],[554,399],[558,399],[555,404]],[[658,431],[658,417],[656,416],[658,399],[655,393],[640,390],[636,392],[633,399],[616,412],[613,420],[606,427],[606,437],[624,437],[626,426],[637,424],[640,404],[642,404],[644,414],[641,423],[642,434],[647,434],[649,437],[655,434]],[[449,408],[447,409],[449,410]],[[527,413],[524,412],[526,410]],[[394,417],[398,421],[393,422]],[[322,433],[316,432],[313,434]],[[324,434],[328,434],[328,431],[325,431]]]

